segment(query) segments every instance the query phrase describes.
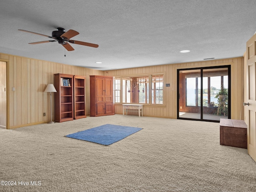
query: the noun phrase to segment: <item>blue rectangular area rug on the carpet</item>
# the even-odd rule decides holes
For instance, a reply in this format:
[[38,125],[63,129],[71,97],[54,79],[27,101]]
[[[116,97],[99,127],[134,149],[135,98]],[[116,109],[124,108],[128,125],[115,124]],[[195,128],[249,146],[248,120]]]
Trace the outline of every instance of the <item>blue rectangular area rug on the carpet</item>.
[[102,145],[110,145],[140,130],[142,130],[142,128],[106,124],[69,134],[66,135],[66,137],[90,141]]

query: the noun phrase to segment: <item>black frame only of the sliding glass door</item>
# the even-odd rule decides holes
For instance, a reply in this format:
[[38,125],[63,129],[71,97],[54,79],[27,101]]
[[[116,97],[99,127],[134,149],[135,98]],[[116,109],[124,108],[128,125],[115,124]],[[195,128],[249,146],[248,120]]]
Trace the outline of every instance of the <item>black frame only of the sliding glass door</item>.
[[[199,67],[199,68],[184,68],[177,69],[177,119],[184,120],[196,120],[196,121],[208,121],[208,122],[220,122],[219,120],[208,120],[203,119],[203,70],[205,69],[216,69],[216,68],[228,68],[228,119],[231,118],[231,65],[222,65],[222,66],[210,66],[210,67]],[[180,71],[184,70],[200,70],[200,80],[201,80],[201,94],[200,94],[200,119],[194,118],[182,118],[180,117]]]

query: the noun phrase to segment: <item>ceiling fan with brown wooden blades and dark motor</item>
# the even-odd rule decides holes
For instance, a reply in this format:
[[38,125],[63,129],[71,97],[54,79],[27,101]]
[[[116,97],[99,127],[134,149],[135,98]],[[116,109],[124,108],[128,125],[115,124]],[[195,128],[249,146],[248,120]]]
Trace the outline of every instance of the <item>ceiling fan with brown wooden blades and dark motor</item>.
[[84,45],[84,46],[89,46],[89,47],[94,47],[94,48],[98,47],[97,44],[92,44],[92,43],[87,43],[87,42],[82,42],[82,41],[71,40],[70,38],[72,38],[72,37],[74,37],[74,36],[79,34],[75,30],[70,29],[67,32],[65,32],[65,29],[62,28],[62,27],[58,27],[57,29],[58,29],[58,31],[53,31],[52,32],[52,36],[43,35],[43,34],[40,34],[40,33],[35,33],[35,32],[26,31],[26,30],[22,30],[22,29],[18,29],[18,30],[54,39],[54,40],[48,40],[48,41],[33,42],[33,43],[29,43],[29,44],[40,44],[40,43],[48,43],[48,42],[58,41],[58,43],[62,44],[62,46],[64,46],[64,48],[66,50],[68,50],[68,51],[73,51],[74,50],[74,48],[69,43],[78,44],[78,45]]

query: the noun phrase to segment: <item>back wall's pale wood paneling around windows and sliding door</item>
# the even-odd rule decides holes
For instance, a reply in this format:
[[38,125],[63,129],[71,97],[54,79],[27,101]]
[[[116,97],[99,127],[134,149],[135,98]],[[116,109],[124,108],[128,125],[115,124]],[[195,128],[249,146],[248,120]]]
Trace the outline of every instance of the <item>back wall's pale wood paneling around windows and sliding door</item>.
[[[164,118],[177,118],[177,69],[222,65],[231,65],[231,118],[242,120],[244,118],[244,108],[242,106],[244,82],[243,57],[140,68],[128,68],[122,70],[110,70],[104,71],[103,74],[115,77],[138,76],[141,74],[157,73],[164,74],[164,85],[166,83],[170,83],[170,87],[164,86],[164,105],[145,105],[143,109],[143,115]],[[122,114],[122,104],[115,104],[115,112],[117,114]]]

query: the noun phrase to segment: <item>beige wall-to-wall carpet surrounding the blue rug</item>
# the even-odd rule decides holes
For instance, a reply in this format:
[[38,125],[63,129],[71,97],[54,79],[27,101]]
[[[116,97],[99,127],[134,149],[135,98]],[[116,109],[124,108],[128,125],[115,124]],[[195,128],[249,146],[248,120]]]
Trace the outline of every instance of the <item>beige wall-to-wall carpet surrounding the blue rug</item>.
[[[110,146],[64,137],[103,124],[143,130]],[[0,181],[16,181],[1,192],[256,190],[256,163],[246,149],[221,146],[213,122],[114,115],[1,129],[0,164]]]

